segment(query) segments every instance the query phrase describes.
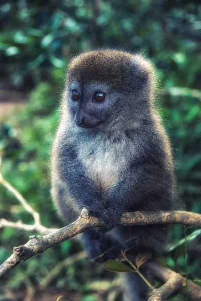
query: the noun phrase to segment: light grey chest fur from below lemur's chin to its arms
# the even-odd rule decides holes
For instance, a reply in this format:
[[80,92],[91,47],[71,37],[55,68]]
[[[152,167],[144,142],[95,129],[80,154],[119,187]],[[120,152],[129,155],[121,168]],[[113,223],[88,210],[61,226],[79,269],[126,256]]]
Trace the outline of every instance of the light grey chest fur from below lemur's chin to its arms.
[[113,139],[101,135],[78,143],[78,157],[86,167],[88,177],[95,182],[100,192],[115,185],[127,168],[130,157],[134,155],[134,145],[130,144],[124,136],[113,142]]

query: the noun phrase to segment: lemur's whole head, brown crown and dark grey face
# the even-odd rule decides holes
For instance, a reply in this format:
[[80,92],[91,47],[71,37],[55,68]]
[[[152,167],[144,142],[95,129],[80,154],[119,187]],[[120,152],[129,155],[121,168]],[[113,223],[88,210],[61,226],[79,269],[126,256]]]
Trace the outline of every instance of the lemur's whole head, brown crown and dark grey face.
[[147,72],[130,54],[99,51],[98,56],[97,52],[89,52],[75,58],[67,91],[75,126],[103,129],[133,118],[131,111],[146,81]]

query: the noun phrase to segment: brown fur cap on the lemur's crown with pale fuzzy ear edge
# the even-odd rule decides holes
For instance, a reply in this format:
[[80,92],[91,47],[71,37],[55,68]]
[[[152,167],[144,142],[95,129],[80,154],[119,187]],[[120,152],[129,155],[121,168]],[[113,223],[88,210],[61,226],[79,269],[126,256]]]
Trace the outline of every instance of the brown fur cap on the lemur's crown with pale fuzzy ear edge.
[[69,80],[76,79],[83,85],[100,81],[128,89],[132,85],[131,69],[128,67],[131,61],[140,67],[140,76],[143,75],[148,79],[153,91],[155,84],[153,65],[145,61],[141,55],[133,56],[124,51],[103,50],[81,54],[69,65]]

